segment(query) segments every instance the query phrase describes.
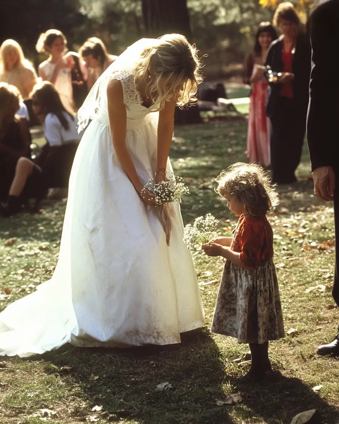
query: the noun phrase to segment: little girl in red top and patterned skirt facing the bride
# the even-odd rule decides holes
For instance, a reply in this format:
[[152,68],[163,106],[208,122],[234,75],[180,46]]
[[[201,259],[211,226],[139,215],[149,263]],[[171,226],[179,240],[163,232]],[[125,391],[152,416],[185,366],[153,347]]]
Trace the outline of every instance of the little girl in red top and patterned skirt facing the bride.
[[272,371],[268,341],[284,337],[283,316],[273,257],[273,232],[266,218],[278,197],[260,165],[236,163],[217,178],[217,192],[239,217],[232,237],[218,237],[202,248],[227,259],[211,331],[249,343],[250,371],[257,381]]

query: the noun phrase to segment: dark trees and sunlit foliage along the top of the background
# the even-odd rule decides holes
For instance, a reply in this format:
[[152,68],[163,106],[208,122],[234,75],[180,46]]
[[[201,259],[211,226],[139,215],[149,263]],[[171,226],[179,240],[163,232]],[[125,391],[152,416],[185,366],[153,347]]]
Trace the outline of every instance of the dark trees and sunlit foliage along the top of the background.
[[[293,3],[307,17],[312,0]],[[220,78],[239,72],[259,22],[272,20],[279,0],[0,0],[0,42],[13,38],[37,66],[41,32],[58,28],[70,50],[98,36],[112,54],[143,36],[180,32],[208,55],[204,73]]]

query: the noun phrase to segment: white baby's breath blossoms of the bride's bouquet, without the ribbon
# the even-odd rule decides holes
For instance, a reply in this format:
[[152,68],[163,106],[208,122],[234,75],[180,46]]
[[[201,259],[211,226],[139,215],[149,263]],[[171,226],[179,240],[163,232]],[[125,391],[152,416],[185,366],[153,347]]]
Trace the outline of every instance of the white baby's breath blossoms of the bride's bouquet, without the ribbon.
[[156,196],[157,206],[171,202],[181,202],[181,197],[189,194],[189,189],[183,179],[174,175],[170,176],[168,180],[158,183],[154,179],[150,179],[144,187]]

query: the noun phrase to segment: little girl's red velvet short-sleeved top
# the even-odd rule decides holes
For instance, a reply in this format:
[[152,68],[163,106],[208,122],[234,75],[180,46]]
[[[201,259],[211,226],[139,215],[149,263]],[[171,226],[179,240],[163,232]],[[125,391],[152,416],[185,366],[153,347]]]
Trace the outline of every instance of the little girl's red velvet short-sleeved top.
[[240,253],[241,262],[255,269],[261,260],[273,257],[273,231],[267,218],[240,215],[231,243],[231,250]]

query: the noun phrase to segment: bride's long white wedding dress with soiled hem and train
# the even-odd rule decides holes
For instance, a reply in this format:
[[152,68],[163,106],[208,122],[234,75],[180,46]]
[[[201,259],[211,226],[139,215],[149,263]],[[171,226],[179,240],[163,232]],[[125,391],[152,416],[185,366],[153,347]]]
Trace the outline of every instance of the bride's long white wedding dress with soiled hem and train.
[[[128,51],[121,56],[126,59]],[[179,204],[172,204],[167,246],[158,216],[140,199],[114,152],[105,91],[109,78],[122,83],[126,143],[139,178],[145,184],[153,177],[158,112],[153,112],[156,106],[142,106],[133,67],[118,59],[103,74],[101,86],[94,86],[95,112],[84,114],[92,122],[72,167],[56,270],[36,292],[0,313],[2,355],[41,354],[67,342],[106,347],[179,343],[180,332],[203,325]],[[170,161],[167,170],[172,172]]]

